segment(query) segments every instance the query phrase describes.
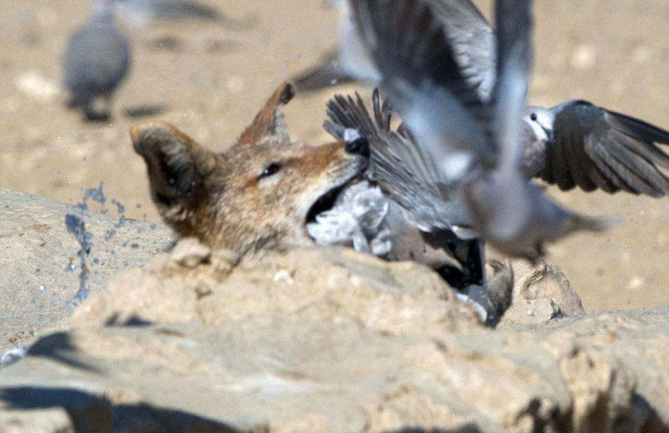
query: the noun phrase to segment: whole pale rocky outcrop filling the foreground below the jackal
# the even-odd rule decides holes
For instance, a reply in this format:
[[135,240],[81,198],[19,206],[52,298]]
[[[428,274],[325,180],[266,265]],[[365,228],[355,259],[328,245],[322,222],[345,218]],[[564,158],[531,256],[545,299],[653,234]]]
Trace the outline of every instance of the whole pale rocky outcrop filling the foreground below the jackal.
[[238,263],[186,240],[1,369],[0,426],[34,411],[53,432],[667,431],[669,310],[583,316],[559,272],[514,266],[526,298],[489,329],[415,263]]

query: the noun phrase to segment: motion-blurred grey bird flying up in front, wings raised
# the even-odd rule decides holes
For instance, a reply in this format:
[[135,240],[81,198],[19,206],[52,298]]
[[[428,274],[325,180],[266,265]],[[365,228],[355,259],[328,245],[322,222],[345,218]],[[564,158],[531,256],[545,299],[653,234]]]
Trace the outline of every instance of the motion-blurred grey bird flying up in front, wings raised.
[[[546,241],[579,229],[601,230],[603,220],[581,217],[557,206],[526,181],[522,170],[524,112],[531,64],[531,1],[499,0],[497,79],[483,98],[485,77],[475,67],[480,56],[456,56],[444,27],[444,7],[435,0],[350,0],[353,26],[380,76],[379,87],[398,109],[415,144],[389,142],[385,151],[412,174],[418,187],[405,194],[414,223],[421,230],[449,229],[458,222],[449,209],[462,209],[471,226],[502,252],[523,256],[541,251]],[[447,8],[446,8],[447,9]],[[451,26],[457,28],[457,26]],[[461,38],[464,40],[464,38]],[[462,42],[464,43],[464,42]],[[467,62],[473,62],[467,65]],[[367,63],[369,64],[369,63]],[[397,157],[400,155],[401,157]],[[397,170],[376,175],[388,185],[406,183]],[[406,186],[403,185],[403,188]],[[416,195],[426,197],[418,199]],[[440,199],[441,197],[441,199]],[[401,199],[396,197],[401,203]]]

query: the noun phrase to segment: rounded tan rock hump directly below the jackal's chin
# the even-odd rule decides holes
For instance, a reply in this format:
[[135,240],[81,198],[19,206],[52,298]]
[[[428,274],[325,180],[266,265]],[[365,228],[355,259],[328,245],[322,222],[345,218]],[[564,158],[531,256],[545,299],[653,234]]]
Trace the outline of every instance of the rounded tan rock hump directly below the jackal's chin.
[[[185,248],[182,243],[175,252]],[[272,252],[227,272],[212,263],[179,268],[180,259],[181,254],[161,254],[153,265],[124,272],[108,290],[91,295],[74,322],[99,326],[140,318],[220,325],[253,316],[355,318],[387,334],[419,329],[427,335],[435,323],[440,333],[481,327],[474,309],[453,302],[451,288],[419,263],[390,263],[344,247]],[[456,320],[460,316],[466,320]]]

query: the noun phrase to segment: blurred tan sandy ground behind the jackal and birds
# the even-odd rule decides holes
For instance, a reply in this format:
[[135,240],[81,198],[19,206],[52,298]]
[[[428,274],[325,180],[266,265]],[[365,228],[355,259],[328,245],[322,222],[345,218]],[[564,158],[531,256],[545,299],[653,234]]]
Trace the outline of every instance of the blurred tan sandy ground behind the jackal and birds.
[[[104,181],[106,195],[127,215],[156,220],[145,166],[127,132],[142,119],[127,111],[161,106],[155,117],[224,149],[278,83],[335,44],[336,11],[321,1],[209,3],[256,24],[240,31],[153,22],[134,38],[131,74],[112,122],[86,124],[63,106],[60,56],[67,35],[86,19],[88,1],[0,0],[0,186],[76,203]],[[666,0],[538,1],[535,10],[531,101],[589,99],[669,128]],[[298,95],[288,110],[293,138],[327,140],[325,101],[355,89]],[[549,261],[565,271],[586,310],[669,304],[669,199],[549,192],[583,213],[624,220],[606,234],[577,234],[549,247]]]

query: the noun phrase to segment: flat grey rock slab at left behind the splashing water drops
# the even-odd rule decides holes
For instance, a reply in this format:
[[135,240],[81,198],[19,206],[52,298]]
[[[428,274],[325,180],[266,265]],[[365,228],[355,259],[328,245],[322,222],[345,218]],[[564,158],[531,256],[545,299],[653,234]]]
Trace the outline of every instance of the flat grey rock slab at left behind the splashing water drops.
[[83,254],[86,291],[95,292],[111,275],[145,263],[174,237],[163,224],[121,220],[82,211],[45,197],[0,188],[0,354],[17,343],[66,329],[81,287],[82,247],[67,231],[75,215],[90,235]]

